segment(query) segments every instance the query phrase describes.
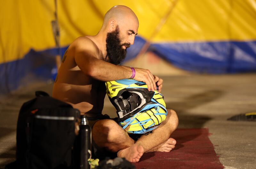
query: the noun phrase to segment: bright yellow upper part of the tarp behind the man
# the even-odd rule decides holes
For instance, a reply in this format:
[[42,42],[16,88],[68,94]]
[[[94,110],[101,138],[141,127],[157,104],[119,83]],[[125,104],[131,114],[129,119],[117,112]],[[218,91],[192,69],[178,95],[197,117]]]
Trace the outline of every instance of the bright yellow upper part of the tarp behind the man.
[[[97,34],[104,14],[117,4],[128,6],[137,14],[138,35],[154,42],[256,39],[255,0],[57,2],[61,46],[79,36]],[[0,63],[21,59],[31,48],[54,47],[52,20],[54,0],[1,0]]]

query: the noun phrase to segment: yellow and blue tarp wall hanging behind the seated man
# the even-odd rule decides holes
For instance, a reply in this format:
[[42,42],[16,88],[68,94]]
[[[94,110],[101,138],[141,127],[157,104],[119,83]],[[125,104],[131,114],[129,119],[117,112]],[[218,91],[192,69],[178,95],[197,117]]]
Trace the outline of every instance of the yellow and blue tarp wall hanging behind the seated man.
[[[1,4],[0,93],[3,93],[8,86],[17,88],[22,78],[33,74],[29,67],[35,65],[26,59],[31,50],[34,52],[30,59],[34,61],[47,56],[54,58],[57,51],[51,24],[55,20],[54,0],[2,0]],[[62,50],[79,36],[97,34],[104,14],[119,4],[130,7],[140,21],[138,37],[128,50],[127,60],[135,58],[148,42],[151,44],[148,50],[189,71],[256,71],[255,0],[57,0],[57,4]],[[44,56],[40,55],[42,52]],[[48,61],[42,69],[54,70],[54,64],[50,63],[53,60]],[[41,74],[51,78],[45,75]]]

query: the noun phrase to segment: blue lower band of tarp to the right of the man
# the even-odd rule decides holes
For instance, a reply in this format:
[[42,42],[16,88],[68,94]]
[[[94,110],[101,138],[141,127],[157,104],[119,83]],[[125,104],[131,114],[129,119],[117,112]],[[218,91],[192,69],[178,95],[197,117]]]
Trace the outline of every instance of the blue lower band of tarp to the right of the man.
[[256,71],[256,41],[161,43],[151,46],[159,56],[188,71],[214,74]]

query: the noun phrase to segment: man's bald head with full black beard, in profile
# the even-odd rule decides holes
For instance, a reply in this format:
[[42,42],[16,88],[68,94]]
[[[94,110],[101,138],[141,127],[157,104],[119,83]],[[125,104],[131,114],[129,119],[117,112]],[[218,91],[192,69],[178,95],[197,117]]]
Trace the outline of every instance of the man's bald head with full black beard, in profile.
[[138,28],[138,18],[127,6],[116,5],[108,10],[96,37],[102,39],[103,43],[106,42],[110,63],[118,65],[124,60],[126,49],[133,45]]

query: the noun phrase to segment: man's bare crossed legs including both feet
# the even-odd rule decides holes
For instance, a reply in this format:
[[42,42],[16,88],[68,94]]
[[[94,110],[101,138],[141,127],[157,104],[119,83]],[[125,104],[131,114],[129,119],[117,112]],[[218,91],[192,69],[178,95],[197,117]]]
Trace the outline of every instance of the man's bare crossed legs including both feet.
[[118,157],[126,158],[130,162],[138,162],[144,152],[169,152],[176,144],[176,140],[170,136],[176,130],[179,120],[174,110],[167,111],[164,122],[153,133],[142,135],[136,142],[121,126],[110,119],[99,120],[94,124],[92,138],[98,147],[117,152]]

